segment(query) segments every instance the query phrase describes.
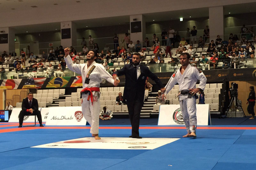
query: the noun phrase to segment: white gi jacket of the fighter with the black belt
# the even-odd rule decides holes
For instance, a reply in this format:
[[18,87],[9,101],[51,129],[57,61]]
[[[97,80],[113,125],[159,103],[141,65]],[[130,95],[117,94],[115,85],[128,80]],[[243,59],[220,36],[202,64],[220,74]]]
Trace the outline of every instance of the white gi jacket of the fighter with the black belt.
[[[165,86],[166,91],[164,92],[164,94],[168,94],[168,92],[177,83],[179,84],[179,91],[196,88],[197,80],[200,80],[198,88],[204,90],[207,79],[204,73],[199,68],[197,68],[196,66],[191,66],[189,64],[183,75],[180,73],[180,68],[176,72],[174,72],[174,74],[172,74],[172,77]],[[179,100],[183,100],[186,98],[188,98],[188,94],[180,94],[179,96]]]

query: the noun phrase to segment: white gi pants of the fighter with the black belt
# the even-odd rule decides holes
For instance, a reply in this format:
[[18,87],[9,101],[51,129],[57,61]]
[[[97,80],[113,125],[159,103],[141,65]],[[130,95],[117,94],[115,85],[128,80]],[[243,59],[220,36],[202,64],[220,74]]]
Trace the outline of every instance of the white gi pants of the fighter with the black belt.
[[188,133],[196,133],[196,98],[180,100],[180,109]]

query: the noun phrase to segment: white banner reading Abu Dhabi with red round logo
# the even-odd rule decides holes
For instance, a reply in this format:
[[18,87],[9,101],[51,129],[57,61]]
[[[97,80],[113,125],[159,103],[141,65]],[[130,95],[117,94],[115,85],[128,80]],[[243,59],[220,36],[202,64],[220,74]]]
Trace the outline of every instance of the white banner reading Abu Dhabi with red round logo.
[[86,125],[82,107],[50,107],[47,115],[48,125]]

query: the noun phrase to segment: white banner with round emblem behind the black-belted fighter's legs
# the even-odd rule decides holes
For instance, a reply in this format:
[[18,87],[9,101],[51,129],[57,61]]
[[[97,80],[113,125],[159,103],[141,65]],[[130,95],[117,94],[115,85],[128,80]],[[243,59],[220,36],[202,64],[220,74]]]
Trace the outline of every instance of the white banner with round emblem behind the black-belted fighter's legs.
[[[208,104],[196,105],[197,125],[211,125],[210,106]],[[161,105],[158,125],[185,125],[180,105]]]

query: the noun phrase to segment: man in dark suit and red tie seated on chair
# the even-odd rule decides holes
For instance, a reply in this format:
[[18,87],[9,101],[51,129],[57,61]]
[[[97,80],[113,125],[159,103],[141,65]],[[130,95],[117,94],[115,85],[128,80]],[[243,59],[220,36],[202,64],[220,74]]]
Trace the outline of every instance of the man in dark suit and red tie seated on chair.
[[44,127],[42,124],[41,112],[38,110],[38,102],[35,98],[33,98],[33,93],[29,92],[28,97],[23,99],[21,108],[22,110],[20,111],[19,115],[19,127],[22,127],[23,119],[26,115],[36,115],[40,123],[40,127]]

